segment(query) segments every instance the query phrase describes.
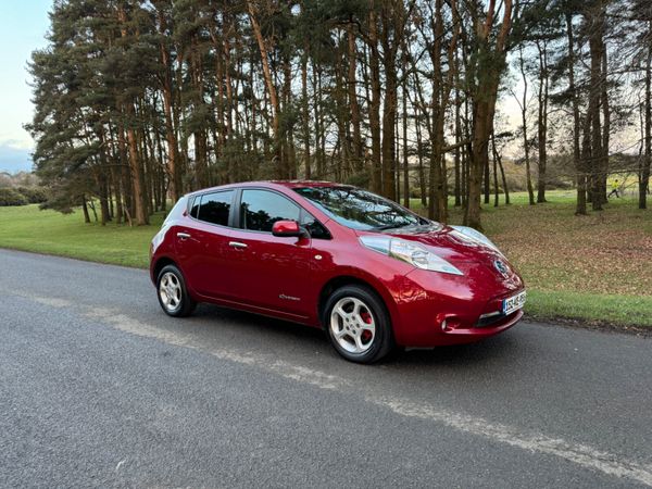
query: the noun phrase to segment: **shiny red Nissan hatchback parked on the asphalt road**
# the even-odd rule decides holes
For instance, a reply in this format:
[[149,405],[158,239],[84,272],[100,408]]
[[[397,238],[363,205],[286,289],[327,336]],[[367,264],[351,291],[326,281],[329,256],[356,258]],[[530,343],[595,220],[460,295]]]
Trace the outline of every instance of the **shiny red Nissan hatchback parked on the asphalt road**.
[[189,193],[152,241],[150,273],[171,316],[212,302],[302,323],[361,363],[496,335],[525,303],[523,279],[480,233],[330,183]]

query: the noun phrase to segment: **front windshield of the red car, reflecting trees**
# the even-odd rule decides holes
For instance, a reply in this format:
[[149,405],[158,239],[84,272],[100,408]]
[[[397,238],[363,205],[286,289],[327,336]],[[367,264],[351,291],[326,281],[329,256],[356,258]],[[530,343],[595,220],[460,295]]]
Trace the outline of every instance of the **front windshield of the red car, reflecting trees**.
[[354,187],[303,187],[294,191],[339,224],[360,230],[429,225],[429,221],[375,193]]

